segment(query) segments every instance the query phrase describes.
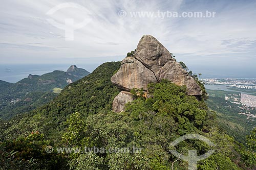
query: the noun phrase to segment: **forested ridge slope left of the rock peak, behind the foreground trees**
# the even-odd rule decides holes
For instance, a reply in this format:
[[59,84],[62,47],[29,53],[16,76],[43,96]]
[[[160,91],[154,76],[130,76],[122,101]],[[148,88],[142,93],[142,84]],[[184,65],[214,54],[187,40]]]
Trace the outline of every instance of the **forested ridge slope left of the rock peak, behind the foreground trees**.
[[[49,121],[54,121],[59,130],[63,130],[63,124],[70,114],[83,112],[93,115],[98,112],[112,110],[112,102],[119,93],[110,78],[114,71],[119,69],[120,62],[107,62],[96,68],[89,76],[78,80],[67,87],[49,104],[33,110],[29,115],[20,115],[26,119],[28,116],[40,114]],[[33,122],[33,120],[31,119]],[[32,124],[31,124],[32,125]],[[31,128],[36,128],[31,126]],[[32,131],[39,129],[32,129]]]

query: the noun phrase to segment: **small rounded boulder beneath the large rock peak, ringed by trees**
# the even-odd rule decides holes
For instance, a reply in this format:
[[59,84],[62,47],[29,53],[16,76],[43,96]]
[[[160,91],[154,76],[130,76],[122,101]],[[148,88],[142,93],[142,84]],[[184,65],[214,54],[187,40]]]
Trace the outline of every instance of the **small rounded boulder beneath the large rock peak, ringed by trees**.
[[133,94],[127,91],[121,91],[113,101],[113,111],[119,113],[124,111],[124,105],[133,101]]

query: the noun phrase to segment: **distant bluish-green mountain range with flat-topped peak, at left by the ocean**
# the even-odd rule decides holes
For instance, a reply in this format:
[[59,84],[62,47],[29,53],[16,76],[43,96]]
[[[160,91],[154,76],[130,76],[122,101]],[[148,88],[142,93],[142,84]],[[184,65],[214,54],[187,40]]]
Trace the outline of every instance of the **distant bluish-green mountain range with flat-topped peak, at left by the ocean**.
[[0,117],[25,113],[51,101],[68,84],[90,72],[76,65],[67,71],[55,70],[47,74],[29,75],[17,83],[0,81]]

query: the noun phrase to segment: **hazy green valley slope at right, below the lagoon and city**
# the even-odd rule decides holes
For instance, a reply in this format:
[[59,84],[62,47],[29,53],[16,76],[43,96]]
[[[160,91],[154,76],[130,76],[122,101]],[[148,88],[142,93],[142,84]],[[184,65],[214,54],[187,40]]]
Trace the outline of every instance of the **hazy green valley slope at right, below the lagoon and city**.
[[[218,124],[236,140],[245,143],[246,135],[256,126],[255,121],[247,119],[246,115],[238,114],[248,111],[241,105],[225,100],[225,96],[230,96],[230,94],[237,95],[239,98],[240,92],[209,89],[207,92],[209,99],[206,103],[211,110],[216,111]],[[230,100],[233,101],[232,98]],[[256,114],[254,110],[250,112]]]

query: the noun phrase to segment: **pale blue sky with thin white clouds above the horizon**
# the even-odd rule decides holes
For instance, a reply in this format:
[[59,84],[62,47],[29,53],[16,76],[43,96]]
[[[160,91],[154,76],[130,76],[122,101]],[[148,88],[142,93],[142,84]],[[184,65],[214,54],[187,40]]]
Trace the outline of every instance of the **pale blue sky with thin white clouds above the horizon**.
[[[65,8],[72,2],[84,9]],[[256,63],[256,1],[82,1],[2,0],[0,6],[1,64],[95,64],[120,61],[134,50],[142,35],[155,36],[178,61],[188,66],[251,68]],[[124,10],[127,15],[119,16]],[[211,18],[132,17],[131,12],[216,12]],[[63,23],[90,21],[65,40]],[[254,69],[255,70],[255,69]],[[249,70],[250,71],[250,70]]]

